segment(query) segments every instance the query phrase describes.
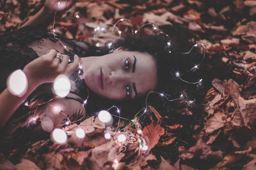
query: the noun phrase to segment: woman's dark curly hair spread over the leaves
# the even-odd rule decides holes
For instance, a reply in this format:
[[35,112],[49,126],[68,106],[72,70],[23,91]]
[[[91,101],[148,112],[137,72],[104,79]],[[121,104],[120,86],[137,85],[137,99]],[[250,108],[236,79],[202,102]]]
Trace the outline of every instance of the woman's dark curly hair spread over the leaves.
[[[163,93],[164,96],[169,99],[179,98],[180,94],[183,94],[184,100],[168,102],[164,97],[158,94],[150,94],[148,96],[148,105],[154,106],[163,117],[168,117],[170,124],[187,124],[198,123],[202,118],[202,99],[205,94],[205,87],[198,85],[190,85],[184,81],[180,81],[175,73],[179,71],[182,74],[182,78],[188,81],[198,81],[202,78],[202,70],[200,71],[189,71],[191,67],[198,64],[202,60],[202,53],[199,48],[195,48],[189,54],[182,54],[182,52],[188,52],[194,43],[189,43],[188,38],[178,38],[178,34],[171,39],[163,36],[162,34],[154,35],[128,35],[124,39],[119,39],[111,46],[111,49],[122,46],[127,48],[129,51],[147,52],[156,60],[157,65],[157,88],[156,92]],[[182,37],[182,36],[181,36]],[[179,39],[177,41],[176,39]],[[170,43],[168,43],[170,42]],[[167,44],[168,43],[168,44]],[[97,49],[97,50],[96,50]],[[109,48],[96,48],[90,46],[90,55],[104,55],[111,50]],[[83,81],[84,82],[84,81]],[[81,82],[79,88],[80,94],[86,93],[86,85]],[[150,82],[145,82],[150,83]],[[83,96],[83,97],[85,97]],[[99,110],[106,110],[112,105],[117,106],[121,110],[121,116],[126,118],[133,118],[134,115],[145,107],[145,97],[138,97],[137,99],[124,99],[120,101],[113,101],[97,96],[90,91],[90,98],[86,110],[88,113],[95,113]],[[188,101],[195,101],[188,103]],[[198,115],[192,115],[191,113],[197,113]],[[117,114],[113,111],[113,114]],[[193,117],[193,119],[191,119]],[[200,119],[198,119],[200,117]],[[147,122],[147,115],[141,117],[142,122]]]

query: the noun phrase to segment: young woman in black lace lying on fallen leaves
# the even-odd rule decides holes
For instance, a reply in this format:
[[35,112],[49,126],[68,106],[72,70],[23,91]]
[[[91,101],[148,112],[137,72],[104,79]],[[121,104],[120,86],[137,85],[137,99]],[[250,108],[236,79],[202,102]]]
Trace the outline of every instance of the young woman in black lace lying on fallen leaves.
[[[15,115],[23,120],[23,126],[28,125],[31,121],[29,115],[33,115],[41,121],[45,117],[50,118],[54,127],[60,127],[67,120],[70,123],[81,120],[86,112],[108,109],[109,103],[113,105],[113,101],[125,110],[125,107],[131,107],[127,103],[132,103],[134,108],[141,104],[138,100],[129,99],[140,99],[152,90],[172,91],[172,97],[177,98],[186,89],[184,82],[175,76],[175,71],[186,71],[197,60],[191,56],[189,59],[188,56],[182,57],[181,53],[175,52],[176,47],[170,45],[170,39],[159,34],[131,35],[116,42],[113,53],[96,50],[95,46],[87,43],[60,38],[41,26],[47,24],[55,10],[65,11],[74,3],[58,2],[45,1],[42,10],[22,25],[22,28],[0,36],[0,51],[3,56],[1,80],[4,80],[0,85],[3,91],[0,94],[0,125],[5,125],[16,111]],[[183,45],[182,48],[184,52],[186,47]],[[198,58],[200,60],[200,55]],[[69,59],[72,60],[71,63],[68,62]],[[77,73],[79,65],[83,67],[81,74]],[[4,89],[8,75],[19,68],[23,69],[28,78],[28,90],[21,97],[13,96],[8,88]],[[52,95],[51,87],[45,90],[45,85],[40,86],[51,83],[59,74],[72,74],[72,80],[75,81],[70,94],[64,98]],[[192,74],[188,74],[188,77],[191,80],[194,78]],[[191,91],[194,94],[197,92],[195,89]],[[90,97],[85,111],[83,101],[88,95]],[[24,101],[28,101],[28,107],[22,104]],[[145,97],[141,101],[144,103]],[[44,102],[47,103],[42,104]],[[134,114],[129,109],[130,114]],[[168,113],[170,111],[172,110],[168,110]],[[52,128],[44,130],[51,132]]]

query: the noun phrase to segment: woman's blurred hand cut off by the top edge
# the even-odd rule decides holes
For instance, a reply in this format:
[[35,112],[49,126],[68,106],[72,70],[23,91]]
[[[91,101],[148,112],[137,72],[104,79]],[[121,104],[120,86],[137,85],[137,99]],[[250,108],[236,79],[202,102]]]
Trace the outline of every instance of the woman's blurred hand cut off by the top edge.
[[65,12],[69,10],[74,5],[74,3],[76,3],[76,0],[46,0],[44,8],[50,12]]

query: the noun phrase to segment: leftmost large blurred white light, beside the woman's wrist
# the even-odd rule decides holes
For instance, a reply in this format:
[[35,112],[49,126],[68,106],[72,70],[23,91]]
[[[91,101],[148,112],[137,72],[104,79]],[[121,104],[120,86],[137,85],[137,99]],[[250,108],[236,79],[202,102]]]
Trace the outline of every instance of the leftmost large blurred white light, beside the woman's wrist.
[[28,89],[28,79],[26,74],[21,70],[17,69],[12,74],[10,74],[7,81],[8,90],[14,96],[23,96]]

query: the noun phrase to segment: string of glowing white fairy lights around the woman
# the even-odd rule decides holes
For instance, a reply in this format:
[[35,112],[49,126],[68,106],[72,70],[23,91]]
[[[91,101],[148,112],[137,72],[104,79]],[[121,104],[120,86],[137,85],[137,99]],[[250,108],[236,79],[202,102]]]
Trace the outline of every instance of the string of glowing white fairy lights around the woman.
[[[61,4],[61,1],[58,1],[58,5],[60,5],[60,4]],[[56,38],[56,30],[54,29],[55,17],[56,17],[55,15],[56,15],[56,11],[54,12],[54,20],[53,20],[53,24],[52,24],[52,34],[54,35],[54,38]],[[76,18],[79,18],[78,14],[76,15]],[[114,29],[116,29],[116,31],[118,32],[118,38],[120,38],[120,36],[122,34],[122,31],[120,31],[120,29],[118,29],[118,27],[116,25],[118,23],[124,22],[124,21],[130,22],[130,24],[131,24],[131,20],[129,20],[127,18],[121,18],[114,25],[112,25],[113,26],[112,34],[114,34]],[[143,27],[147,27],[147,26],[152,27],[153,31],[158,31],[158,32],[160,32],[160,34],[163,34],[164,36],[166,36],[166,38],[168,38],[168,41],[166,43],[167,46],[171,46],[172,45],[169,36],[167,34],[164,34],[164,32],[161,31],[156,26],[156,24],[147,23],[147,24],[142,25],[140,27],[140,29],[138,29],[138,30],[134,31],[133,29],[131,29],[132,34],[138,34]],[[132,28],[132,25],[131,25],[131,28]],[[102,32],[102,31],[106,31],[106,30],[107,29],[105,27],[96,27],[94,29],[94,36],[93,36],[93,38],[97,37],[97,35],[100,34],[100,31]],[[67,46],[64,45],[64,43],[61,41],[60,38],[56,38],[56,39],[58,39],[58,41],[61,43],[61,45],[63,45],[63,48],[65,48],[66,50],[72,52],[72,50],[69,50],[67,48]],[[108,47],[111,47],[112,45],[113,45],[112,42],[107,44]],[[99,46],[99,43],[96,43],[96,46]],[[188,52],[182,53],[182,54],[189,54],[193,50],[193,48],[198,47],[198,46],[202,46],[204,48],[204,53],[203,53],[202,60],[198,64],[195,64],[195,66],[193,66],[188,71],[195,71],[196,69],[198,69],[200,64],[203,62],[204,57],[205,57],[205,46],[204,46],[203,43],[196,43]],[[172,53],[172,51],[169,51],[169,53]],[[79,64],[78,70],[79,70],[78,71],[78,76],[79,76],[79,73],[81,73],[81,71],[83,71],[83,67],[81,66],[81,64]],[[77,76],[77,78],[78,78],[78,76]],[[195,84],[202,83],[202,79],[200,79],[198,81],[195,81],[195,82],[190,82],[190,81],[184,80],[181,77],[181,74],[180,74],[179,71],[175,72],[175,76],[177,76],[177,78],[179,78],[180,81],[184,81],[185,83],[188,83],[188,84],[195,85]],[[69,78],[67,76],[65,76],[64,74],[61,74],[61,75],[57,76],[56,79],[54,80],[54,83],[53,83],[53,87],[54,87],[53,89],[54,89],[54,92],[56,93],[56,95],[60,96],[60,97],[67,96],[69,94],[69,92],[70,92],[70,88],[77,81],[77,78],[71,84]],[[19,83],[17,83],[17,81],[19,81]],[[15,96],[22,96],[22,95],[24,95],[26,93],[26,90],[28,89],[28,80],[26,78],[26,74],[24,74],[24,72],[22,70],[19,69],[17,71],[14,71],[9,76],[9,78],[8,78],[8,89]],[[186,99],[186,95],[184,95],[184,94],[180,94],[180,97],[177,98],[177,99],[169,99],[163,93],[152,91],[152,92],[148,92],[148,94],[147,94],[147,97],[145,99],[145,108],[143,108],[141,111],[138,112],[138,113],[141,113],[144,110],[143,113],[140,115],[140,117],[137,117],[138,114],[136,114],[136,116],[132,120],[124,118],[124,117],[121,117],[120,116],[120,108],[118,108],[116,106],[112,106],[108,110],[99,111],[97,117],[99,118],[100,122],[103,122],[106,126],[110,126],[110,125],[113,124],[113,117],[117,117],[118,118],[118,124],[117,124],[117,127],[115,128],[115,132],[111,133],[109,131],[106,131],[105,134],[104,134],[104,138],[106,138],[106,139],[112,139],[113,138],[113,139],[115,139],[117,145],[123,145],[125,143],[125,140],[127,139],[127,136],[125,136],[125,134],[122,133],[122,131],[124,131],[124,129],[120,129],[120,120],[121,119],[122,120],[126,120],[126,121],[130,122],[130,124],[127,125],[128,127],[134,126],[136,128],[136,130],[137,130],[136,133],[139,136],[137,138],[138,147],[140,148],[142,153],[147,152],[148,145],[147,145],[146,140],[143,138],[143,131],[140,129],[140,127],[138,126],[137,122],[140,121],[140,118],[148,110],[147,100],[148,100],[148,96],[150,96],[150,94],[158,94],[160,97],[164,97],[164,99],[166,99],[168,102],[179,101],[179,100],[183,100],[183,101],[185,101],[188,104],[191,104],[191,103],[195,102],[195,100],[193,101],[193,100]],[[83,104],[82,104],[83,108],[84,108],[84,111],[85,111],[86,103],[87,103],[88,99],[90,99],[89,98],[89,90],[88,90],[88,96],[86,97],[86,99],[83,101]],[[51,106],[52,109],[56,113],[60,113],[61,115],[64,115],[67,118],[67,122],[65,122],[65,124],[61,124],[62,127],[63,127],[63,125],[67,126],[67,125],[74,124],[74,123],[76,123],[79,120],[83,120],[84,116],[82,118],[80,118],[79,120],[71,122],[71,120],[70,120],[70,118],[68,118],[67,114],[62,111],[62,108],[60,106],[52,105],[51,101],[52,101],[52,99],[50,99],[49,101],[47,101],[47,102],[45,102],[43,104],[49,104],[49,106]],[[29,104],[28,104],[28,102],[24,102],[24,105],[28,106]],[[36,115],[36,111],[38,110],[39,106],[42,106],[42,104],[37,106],[37,108],[36,108],[36,110],[35,110],[35,112],[33,114],[34,116],[29,118],[28,125],[33,123],[33,122],[35,123],[37,121],[41,121],[42,129],[44,129],[44,131],[51,132],[51,139],[52,139],[53,142],[59,143],[59,144],[67,143],[67,139],[68,139],[67,132],[65,132],[63,129],[60,129],[60,128],[55,128],[54,129],[54,123],[53,123],[53,120],[51,120],[51,118],[49,118],[49,117],[45,118],[44,117],[42,120],[39,120],[40,118],[38,117],[38,115]],[[114,115],[114,114],[109,113],[109,110],[112,110],[112,109],[115,109],[116,113],[118,113],[118,115]],[[86,132],[84,131],[83,127],[77,126],[77,129],[76,129],[75,133],[76,133],[77,138],[79,138],[79,139],[83,139],[83,138],[86,137]],[[116,136],[116,134],[118,134],[118,135]],[[118,167],[118,161],[119,161],[118,159],[113,160],[113,167]]]

